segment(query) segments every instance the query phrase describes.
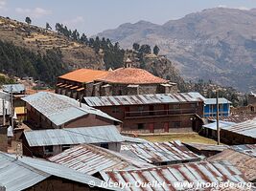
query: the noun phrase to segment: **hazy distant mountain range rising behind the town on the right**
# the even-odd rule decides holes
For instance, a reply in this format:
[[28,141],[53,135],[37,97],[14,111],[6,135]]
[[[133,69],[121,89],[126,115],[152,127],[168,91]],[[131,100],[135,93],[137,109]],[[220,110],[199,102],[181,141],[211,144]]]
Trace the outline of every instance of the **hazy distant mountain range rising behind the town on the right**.
[[256,10],[210,9],[164,25],[140,21],[98,35],[158,45],[187,79],[211,79],[241,91],[256,90]]

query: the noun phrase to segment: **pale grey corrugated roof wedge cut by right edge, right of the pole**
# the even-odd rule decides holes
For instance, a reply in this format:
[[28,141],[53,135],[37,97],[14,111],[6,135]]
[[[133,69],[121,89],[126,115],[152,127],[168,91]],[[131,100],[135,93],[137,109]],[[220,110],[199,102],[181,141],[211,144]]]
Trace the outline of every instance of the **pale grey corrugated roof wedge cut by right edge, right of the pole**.
[[247,120],[231,126],[226,126],[222,129],[231,131],[236,134],[244,135],[249,138],[256,138],[256,119]]

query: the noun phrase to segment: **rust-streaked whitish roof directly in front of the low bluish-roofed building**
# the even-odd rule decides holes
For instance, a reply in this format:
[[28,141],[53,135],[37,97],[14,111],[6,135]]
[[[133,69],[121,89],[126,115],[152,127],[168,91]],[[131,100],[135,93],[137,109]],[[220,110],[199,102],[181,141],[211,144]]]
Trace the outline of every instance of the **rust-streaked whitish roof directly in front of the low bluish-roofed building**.
[[79,145],[49,158],[81,173],[93,175],[100,171],[129,170],[153,167],[140,159],[130,159],[94,145]]

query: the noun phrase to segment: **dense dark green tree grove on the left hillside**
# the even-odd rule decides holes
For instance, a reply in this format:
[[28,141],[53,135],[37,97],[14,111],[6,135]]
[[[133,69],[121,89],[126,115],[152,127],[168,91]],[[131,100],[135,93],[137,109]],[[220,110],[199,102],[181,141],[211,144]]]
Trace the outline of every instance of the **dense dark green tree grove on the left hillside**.
[[67,66],[58,49],[40,54],[0,41],[0,71],[18,77],[33,76],[53,85],[58,75],[67,72]]

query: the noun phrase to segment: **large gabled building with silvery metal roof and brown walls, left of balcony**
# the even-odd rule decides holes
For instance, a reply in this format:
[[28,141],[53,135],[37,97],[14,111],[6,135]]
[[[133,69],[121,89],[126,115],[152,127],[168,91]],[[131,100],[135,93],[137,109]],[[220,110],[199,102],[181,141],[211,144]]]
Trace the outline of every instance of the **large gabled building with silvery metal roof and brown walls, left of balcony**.
[[68,96],[40,92],[23,97],[27,121],[32,129],[90,127],[121,123],[104,112],[88,107]]

